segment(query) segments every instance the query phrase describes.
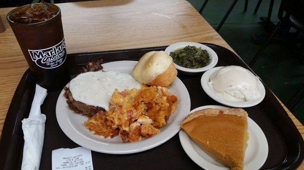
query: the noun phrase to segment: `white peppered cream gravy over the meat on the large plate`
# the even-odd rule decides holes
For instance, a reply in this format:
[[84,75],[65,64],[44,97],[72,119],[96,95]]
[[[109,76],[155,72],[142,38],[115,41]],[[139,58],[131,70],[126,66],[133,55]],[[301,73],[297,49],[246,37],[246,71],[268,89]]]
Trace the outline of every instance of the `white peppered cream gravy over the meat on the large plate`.
[[115,89],[140,89],[141,85],[128,73],[97,71],[78,75],[70,81],[69,89],[74,100],[108,111],[109,100]]

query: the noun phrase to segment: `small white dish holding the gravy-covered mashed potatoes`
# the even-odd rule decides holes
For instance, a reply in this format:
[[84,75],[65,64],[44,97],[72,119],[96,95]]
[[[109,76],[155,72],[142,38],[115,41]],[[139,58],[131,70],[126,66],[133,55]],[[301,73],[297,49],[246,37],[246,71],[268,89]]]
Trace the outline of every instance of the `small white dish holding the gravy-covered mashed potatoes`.
[[218,95],[216,95],[213,91],[213,89],[211,89],[209,86],[208,86],[208,82],[210,81],[210,76],[212,75],[212,73],[214,73],[215,71],[221,69],[223,67],[215,67],[215,68],[212,68],[208,71],[206,71],[203,75],[202,75],[202,78],[201,78],[201,84],[202,84],[202,87],[205,91],[205,93],[211,97],[213,100],[221,103],[221,104],[224,104],[224,105],[227,105],[227,106],[232,106],[232,107],[251,107],[251,106],[254,106],[258,103],[260,103],[264,97],[265,97],[265,88],[264,88],[264,85],[262,84],[262,82],[257,79],[257,87],[260,91],[260,94],[261,94],[261,97],[258,98],[258,99],[255,99],[255,100],[249,100],[249,101],[229,101],[229,100],[225,100],[221,97],[219,97]]

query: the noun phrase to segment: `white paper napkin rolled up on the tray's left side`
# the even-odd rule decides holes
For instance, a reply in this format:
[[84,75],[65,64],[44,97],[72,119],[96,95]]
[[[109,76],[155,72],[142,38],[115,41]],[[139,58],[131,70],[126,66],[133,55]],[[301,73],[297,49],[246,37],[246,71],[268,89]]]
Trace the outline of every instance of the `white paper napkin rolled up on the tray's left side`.
[[22,120],[24,134],[22,170],[39,170],[46,122],[46,116],[41,114],[40,106],[46,96],[47,89],[36,85],[29,116]]

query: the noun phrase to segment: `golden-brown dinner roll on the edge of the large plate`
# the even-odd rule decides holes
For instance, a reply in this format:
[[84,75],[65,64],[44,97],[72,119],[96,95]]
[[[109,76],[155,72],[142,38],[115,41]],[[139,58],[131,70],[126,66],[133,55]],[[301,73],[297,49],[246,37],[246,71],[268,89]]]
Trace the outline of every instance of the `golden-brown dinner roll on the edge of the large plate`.
[[170,55],[165,51],[145,53],[132,70],[132,76],[140,83],[166,87],[177,75]]

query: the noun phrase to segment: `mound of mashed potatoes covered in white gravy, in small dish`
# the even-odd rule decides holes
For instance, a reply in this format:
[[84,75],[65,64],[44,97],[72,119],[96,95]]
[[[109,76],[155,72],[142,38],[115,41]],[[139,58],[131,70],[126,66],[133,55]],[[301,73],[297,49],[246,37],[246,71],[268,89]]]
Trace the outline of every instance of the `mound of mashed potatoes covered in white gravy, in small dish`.
[[229,101],[249,101],[261,97],[257,77],[240,66],[226,66],[210,76],[208,86]]

